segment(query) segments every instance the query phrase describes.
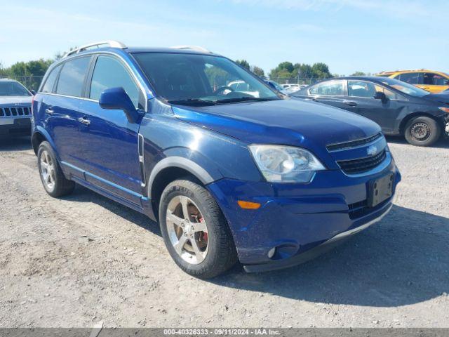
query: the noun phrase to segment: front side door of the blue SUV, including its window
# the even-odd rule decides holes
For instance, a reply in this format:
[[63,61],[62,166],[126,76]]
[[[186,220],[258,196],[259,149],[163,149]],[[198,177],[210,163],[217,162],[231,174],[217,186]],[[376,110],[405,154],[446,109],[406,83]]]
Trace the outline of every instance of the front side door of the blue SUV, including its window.
[[86,88],[86,100],[80,105],[83,153],[81,168],[86,180],[132,201],[140,203],[141,181],[138,154],[139,124],[128,121],[122,110],[105,110],[98,100],[107,88],[122,87],[136,109],[145,110],[145,99],[133,74],[112,55],[100,54]]

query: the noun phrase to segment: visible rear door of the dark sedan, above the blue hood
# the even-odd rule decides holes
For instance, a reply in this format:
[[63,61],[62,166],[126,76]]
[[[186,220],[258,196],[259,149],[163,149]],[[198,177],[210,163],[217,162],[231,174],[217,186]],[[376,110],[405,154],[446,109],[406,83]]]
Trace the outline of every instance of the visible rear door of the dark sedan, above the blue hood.
[[344,109],[345,84],[342,79],[323,81],[309,88],[309,98],[306,99]]

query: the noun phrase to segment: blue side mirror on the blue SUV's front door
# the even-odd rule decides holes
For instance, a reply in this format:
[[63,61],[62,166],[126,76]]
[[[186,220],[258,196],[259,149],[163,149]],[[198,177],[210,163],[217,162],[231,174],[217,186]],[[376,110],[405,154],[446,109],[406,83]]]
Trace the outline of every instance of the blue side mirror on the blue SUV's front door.
[[123,110],[130,123],[137,123],[140,117],[138,110],[135,109],[133,101],[129,98],[126,91],[119,88],[105,89],[100,95],[98,102],[100,107],[107,110]]

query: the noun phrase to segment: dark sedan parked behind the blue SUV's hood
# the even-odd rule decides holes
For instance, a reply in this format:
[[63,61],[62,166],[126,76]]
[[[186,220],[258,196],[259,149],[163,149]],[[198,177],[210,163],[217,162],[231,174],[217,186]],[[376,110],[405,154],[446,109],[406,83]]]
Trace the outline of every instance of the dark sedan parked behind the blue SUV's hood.
[[[372,119],[389,135],[429,146],[449,132],[449,100],[396,79],[340,77],[321,81],[292,95]],[[437,96],[438,97],[438,96]]]

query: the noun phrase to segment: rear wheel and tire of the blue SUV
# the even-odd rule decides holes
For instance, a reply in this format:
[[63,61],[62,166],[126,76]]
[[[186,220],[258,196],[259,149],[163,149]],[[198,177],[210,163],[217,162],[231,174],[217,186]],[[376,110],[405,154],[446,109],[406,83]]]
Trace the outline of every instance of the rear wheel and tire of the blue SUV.
[[70,194],[75,188],[72,180],[65,178],[50,143],[43,141],[37,150],[37,166],[43,188],[54,198]]

